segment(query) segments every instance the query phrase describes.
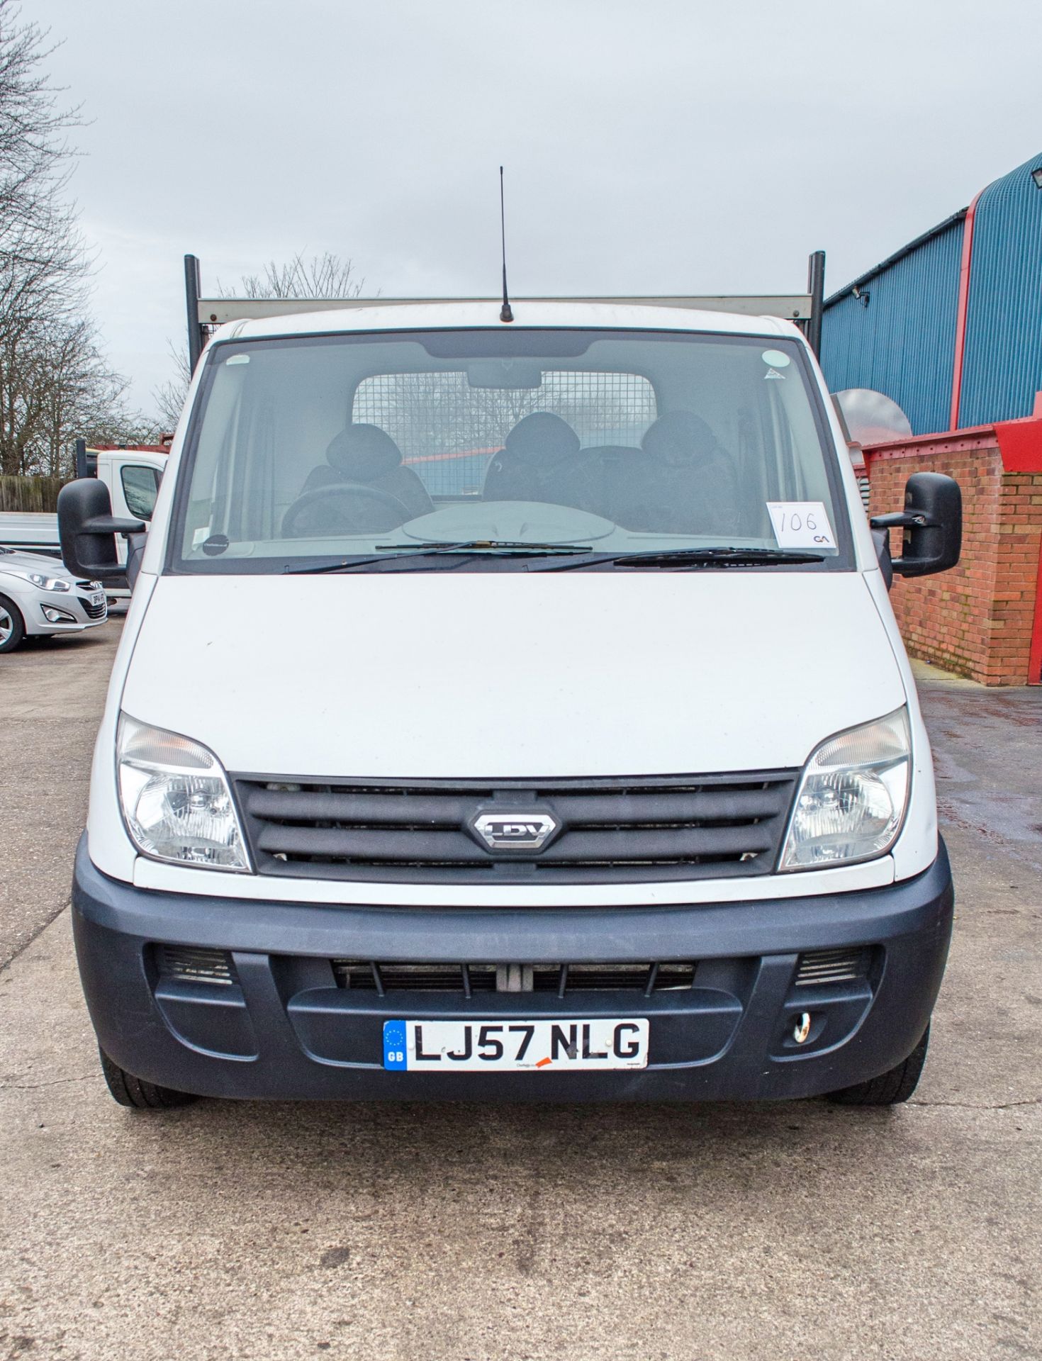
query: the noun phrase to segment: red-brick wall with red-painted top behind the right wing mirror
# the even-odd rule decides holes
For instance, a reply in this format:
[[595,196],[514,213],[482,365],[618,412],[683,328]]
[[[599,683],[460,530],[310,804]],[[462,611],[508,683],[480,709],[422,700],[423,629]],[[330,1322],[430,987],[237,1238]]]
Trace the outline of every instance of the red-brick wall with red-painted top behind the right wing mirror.
[[[1012,426],[1037,429],[1018,429],[1011,441]],[[962,487],[958,568],[894,580],[891,600],[909,653],[984,685],[1038,683],[1042,421],[918,436],[865,453],[871,514],[901,510],[913,472],[947,472]],[[891,550],[901,553],[896,531]]]

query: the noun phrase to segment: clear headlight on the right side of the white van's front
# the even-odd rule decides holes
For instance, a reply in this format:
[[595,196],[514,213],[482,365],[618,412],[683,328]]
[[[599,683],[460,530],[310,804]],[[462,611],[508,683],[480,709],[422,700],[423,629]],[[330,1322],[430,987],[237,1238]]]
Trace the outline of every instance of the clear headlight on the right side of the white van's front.
[[838,732],[804,766],[779,870],[871,860],[894,845],[909,803],[909,710]]

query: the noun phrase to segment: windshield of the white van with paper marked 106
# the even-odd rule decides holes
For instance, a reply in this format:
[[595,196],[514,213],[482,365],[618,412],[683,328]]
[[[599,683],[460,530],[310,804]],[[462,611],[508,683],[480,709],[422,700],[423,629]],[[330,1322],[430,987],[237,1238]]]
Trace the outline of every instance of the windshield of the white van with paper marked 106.
[[362,559],[415,554],[449,569],[456,544],[476,570],[709,548],[827,570],[847,529],[811,393],[799,342],[763,336],[501,327],[216,343],[170,562],[381,570]]

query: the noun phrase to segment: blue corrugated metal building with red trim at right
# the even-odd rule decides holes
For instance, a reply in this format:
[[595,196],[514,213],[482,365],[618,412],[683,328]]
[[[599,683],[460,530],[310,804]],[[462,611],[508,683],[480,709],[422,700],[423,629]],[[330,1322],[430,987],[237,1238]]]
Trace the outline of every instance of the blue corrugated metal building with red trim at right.
[[873,388],[915,434],[1031,415],[1042,391],[1042,154],[826,299],[833,392]]

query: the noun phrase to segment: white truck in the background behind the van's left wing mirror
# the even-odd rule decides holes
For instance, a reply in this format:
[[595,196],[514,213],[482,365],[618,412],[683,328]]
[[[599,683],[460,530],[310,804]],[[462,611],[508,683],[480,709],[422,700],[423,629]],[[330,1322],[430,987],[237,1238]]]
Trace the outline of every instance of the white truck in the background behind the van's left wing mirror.
[[[87,448],[76,441],[76,476],[98,478],[109,489],[113,514],[129,520],[152,519],[155,498],[166,468],[169,449],[163,445],[136,448]],[[61,559],[58,517],[31,510],[0,510],[0,548],[42,554]],[[120,562],[127,561],[127,540],[118,540]],[[129,591],[109,589],[109,596]]]

